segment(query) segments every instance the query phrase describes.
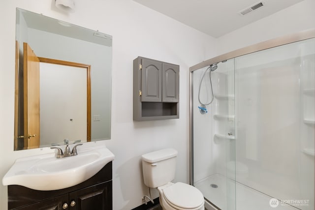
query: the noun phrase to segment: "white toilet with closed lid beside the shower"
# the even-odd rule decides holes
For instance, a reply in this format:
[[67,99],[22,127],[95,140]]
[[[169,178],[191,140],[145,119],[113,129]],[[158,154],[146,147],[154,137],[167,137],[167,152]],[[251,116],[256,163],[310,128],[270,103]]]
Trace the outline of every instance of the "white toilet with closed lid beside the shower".
[[172,183],[175,178],[177,151],[164,149],[142,155],[145,185],[157,188],[163,210],[204,210],[202,193],[189,184]]

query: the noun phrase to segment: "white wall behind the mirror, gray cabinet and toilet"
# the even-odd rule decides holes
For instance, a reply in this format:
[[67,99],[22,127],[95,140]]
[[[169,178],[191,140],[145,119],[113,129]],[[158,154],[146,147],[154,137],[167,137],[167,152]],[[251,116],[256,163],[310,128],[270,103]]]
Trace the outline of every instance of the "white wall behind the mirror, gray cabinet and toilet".
[[[18,157],[50,149],[13,151],[15,7],[113,36],[112,140],[114,210],[130,210],[148,194],[141,154],[172,147],[178,150],[177,181],[189,181],[189,66],[214,57],[216,40],[132,0],[76,0],[76,12],[63,14],[54,0],[2,0],[0,7],[0,178]],[[5,32],[4,32],[5,31]],[[180,65],[180,119],[132,120],[132,60],[143,56]],[[0,186],[0,209],[7,188]],[[157,196],[157,193],[154,193]]]

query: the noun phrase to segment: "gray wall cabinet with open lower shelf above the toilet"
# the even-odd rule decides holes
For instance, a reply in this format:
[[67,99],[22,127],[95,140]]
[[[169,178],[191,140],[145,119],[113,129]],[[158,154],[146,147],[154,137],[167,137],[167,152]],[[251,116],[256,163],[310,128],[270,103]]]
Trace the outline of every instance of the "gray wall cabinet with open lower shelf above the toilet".
[[179,118],[179,65],[133,60],[133,120]]

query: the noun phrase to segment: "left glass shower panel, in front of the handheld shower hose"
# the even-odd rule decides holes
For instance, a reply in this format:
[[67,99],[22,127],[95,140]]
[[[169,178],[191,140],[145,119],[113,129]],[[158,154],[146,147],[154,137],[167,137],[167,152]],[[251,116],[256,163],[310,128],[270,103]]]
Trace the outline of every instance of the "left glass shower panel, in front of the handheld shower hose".
[[234,59],[216,65],[191,72],[193,185],[208,210],[235,210]]

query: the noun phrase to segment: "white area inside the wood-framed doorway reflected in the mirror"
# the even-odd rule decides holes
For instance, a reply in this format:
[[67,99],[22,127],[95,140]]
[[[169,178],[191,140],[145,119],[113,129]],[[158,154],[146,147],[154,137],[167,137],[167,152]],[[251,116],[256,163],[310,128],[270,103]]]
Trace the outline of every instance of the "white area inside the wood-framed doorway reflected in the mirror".
[[87,139],[87,68],[39,64],[40,144]]

